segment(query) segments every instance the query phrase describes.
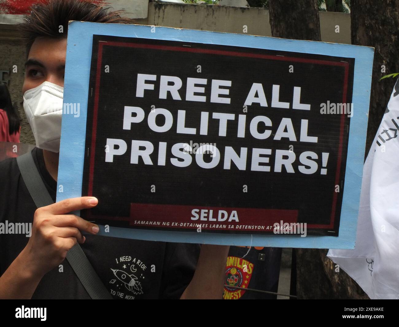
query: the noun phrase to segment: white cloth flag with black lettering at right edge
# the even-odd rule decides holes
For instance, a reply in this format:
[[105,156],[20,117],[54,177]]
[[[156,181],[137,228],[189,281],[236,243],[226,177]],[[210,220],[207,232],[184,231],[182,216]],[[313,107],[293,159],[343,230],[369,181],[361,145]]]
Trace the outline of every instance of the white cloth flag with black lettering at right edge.
[[363,166],[355,249],[327,256],[371,299],[399,299],[399,80]]

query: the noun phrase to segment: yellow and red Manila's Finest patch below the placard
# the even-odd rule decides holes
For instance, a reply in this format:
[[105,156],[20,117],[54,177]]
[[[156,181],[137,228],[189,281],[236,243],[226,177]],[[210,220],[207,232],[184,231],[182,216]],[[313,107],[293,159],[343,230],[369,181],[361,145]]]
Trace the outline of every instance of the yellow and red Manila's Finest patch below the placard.
[[236,287],[248,288],[252,273],[253,263],[238,257],[227,257],[223,299],[243,296],[245,290]]

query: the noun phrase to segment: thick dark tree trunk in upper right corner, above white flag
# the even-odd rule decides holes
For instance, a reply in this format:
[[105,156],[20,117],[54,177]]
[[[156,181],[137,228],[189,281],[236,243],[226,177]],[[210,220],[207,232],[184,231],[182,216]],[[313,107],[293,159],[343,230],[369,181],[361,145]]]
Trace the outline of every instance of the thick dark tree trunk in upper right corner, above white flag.
[[[399,0],[352,0],[351,32],[352,44],[375,48],[367,156],[396,81],[393,78],[379,79],[383,75],[399,73]],[[382,65],[385,65],[385,72]],[[356,115],[356,109],[354,111]]]

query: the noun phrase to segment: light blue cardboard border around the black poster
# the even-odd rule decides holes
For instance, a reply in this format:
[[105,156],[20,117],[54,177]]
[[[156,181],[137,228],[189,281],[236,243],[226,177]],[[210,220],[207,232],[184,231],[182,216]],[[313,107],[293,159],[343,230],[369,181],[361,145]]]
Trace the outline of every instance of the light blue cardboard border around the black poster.
[[[163,242],[280,248],[353,249],[356,240],[374,49],[349,44],[286,40],[162,26],[156,26],[154,33],[151,32],[153,29],[153,26],[147,25],[69,22],[64,103],[80,103],[81,111],[79,117],[73,115],[63,115],[62,117],[58,186],[63,185],[63,192],[57,192],[57,201],[81,196],[87,118],[85,108],[87,108],[87,94],[89,92],[93,34],[352,57],[355,58],[352,97],[354,117],[351,118],[350,125],[345,188],[338,237],[306,236],[301,238],[294,235],[188,233],[118,227],[110,228],[109,232],[104,232],[102,231],[103,228],[100,228],[99,235]],[[60,189],[58,186],[57,190]]]

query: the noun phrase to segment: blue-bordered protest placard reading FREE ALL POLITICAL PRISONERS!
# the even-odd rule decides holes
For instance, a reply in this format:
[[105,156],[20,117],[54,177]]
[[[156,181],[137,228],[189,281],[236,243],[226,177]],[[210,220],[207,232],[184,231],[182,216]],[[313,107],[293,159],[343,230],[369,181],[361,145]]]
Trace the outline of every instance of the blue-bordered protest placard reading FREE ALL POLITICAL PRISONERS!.
[[[373,49],[71,22],[57,200],[103,235],[351,248]],[[306,237],[304,237],[306,236]]]

